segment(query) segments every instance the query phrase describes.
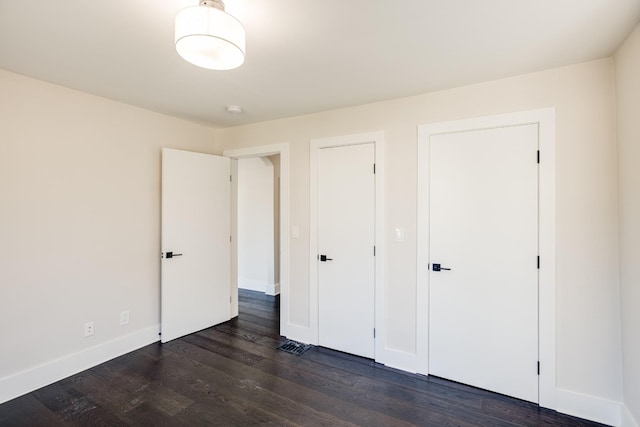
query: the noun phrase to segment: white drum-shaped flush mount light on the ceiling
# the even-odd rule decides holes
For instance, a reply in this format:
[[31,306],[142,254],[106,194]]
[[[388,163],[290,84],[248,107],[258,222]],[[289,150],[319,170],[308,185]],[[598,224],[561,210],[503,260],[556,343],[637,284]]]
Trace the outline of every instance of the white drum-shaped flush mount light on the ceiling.
[[244,62],[244,27],[224,11],[222,0],[200,0],[176,15],[176,50],[198,67],[237,68]]

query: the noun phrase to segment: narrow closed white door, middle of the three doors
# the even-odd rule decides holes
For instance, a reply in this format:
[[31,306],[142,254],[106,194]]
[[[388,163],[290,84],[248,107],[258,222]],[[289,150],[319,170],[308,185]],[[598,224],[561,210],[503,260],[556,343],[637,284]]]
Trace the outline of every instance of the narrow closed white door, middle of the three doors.
[[374,357],[374,144],[318,154],[318,340]]

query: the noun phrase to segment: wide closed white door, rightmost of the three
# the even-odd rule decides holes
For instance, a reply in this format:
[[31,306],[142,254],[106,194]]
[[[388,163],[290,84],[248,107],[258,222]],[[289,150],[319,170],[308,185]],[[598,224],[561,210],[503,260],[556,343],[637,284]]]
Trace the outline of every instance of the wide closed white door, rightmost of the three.
[[537,150],[531,124],[431,136],[429,153],[429,373],[532,402]]

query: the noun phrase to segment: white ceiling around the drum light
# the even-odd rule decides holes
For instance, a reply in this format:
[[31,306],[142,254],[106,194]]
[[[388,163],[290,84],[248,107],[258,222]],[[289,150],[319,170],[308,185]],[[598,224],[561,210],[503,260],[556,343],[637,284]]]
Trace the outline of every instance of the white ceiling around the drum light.
[[0,68],[223,127],[606,57],[640,20],[640,0],[226,0],[247,57],[211,71],[174,48],[197,3],[0,0]]

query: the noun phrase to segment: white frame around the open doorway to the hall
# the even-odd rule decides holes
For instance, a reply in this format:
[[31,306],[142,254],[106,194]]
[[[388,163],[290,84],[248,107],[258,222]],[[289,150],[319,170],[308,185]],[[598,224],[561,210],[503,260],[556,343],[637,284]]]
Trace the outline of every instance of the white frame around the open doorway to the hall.
[[[257,147],[224,150],[222,153],[231,157],[231,174],[237,176],[238,159],[248,157],[266,157],[280,155],[280,335],[297,337],[300,326],[289,322],[289,144],[262,145]],[[238,220],[237,220],[237,179],[231,186],[231,295],[237,296],[238,288]],[[235,292],[235,293],[234,293]],[[232,316],[238,315],[238,301],[232,301]]]

